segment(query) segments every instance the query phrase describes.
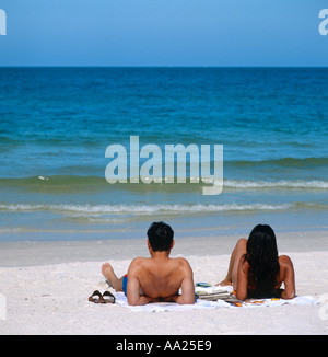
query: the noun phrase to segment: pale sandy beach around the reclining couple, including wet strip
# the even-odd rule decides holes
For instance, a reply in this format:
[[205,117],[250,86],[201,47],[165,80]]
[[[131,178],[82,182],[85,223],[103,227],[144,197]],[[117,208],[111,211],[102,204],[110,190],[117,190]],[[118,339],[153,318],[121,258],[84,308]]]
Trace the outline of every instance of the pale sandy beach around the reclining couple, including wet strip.
[[[176,239],[173,256],[184,256],[195,281],[224,278],[236,237]],[[280,254],[291,256],[298,296],[316,306],[133,312],[94,304],[87,297],[108,285],[101,265],[127,272],[131,258],[147,256],[143,240],[21,242],[0,244],[1,334],[324,334],[328,333],[328,232],[278,237]]]

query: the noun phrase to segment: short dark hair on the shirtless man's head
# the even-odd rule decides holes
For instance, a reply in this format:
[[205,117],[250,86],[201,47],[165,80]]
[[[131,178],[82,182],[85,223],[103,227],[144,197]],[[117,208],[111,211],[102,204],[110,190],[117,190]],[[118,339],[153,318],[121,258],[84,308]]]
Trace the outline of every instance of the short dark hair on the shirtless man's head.
[[147,235],[154,252],[167,252],[171,249],[174,232],[172,228],[164,222],[153,222],[150,226]]

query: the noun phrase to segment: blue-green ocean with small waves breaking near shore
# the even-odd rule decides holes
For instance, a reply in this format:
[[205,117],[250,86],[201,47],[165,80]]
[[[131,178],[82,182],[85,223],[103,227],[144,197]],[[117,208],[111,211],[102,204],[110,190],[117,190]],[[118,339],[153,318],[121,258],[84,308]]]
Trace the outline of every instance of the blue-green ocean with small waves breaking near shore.
[[[327,68],[0,68],[0,241],[143,238],[159,220],[176,238],[327,230]],[[222,193],[188,174],[108,183],[106,149],[129,172],[131,136],[223,145]]]

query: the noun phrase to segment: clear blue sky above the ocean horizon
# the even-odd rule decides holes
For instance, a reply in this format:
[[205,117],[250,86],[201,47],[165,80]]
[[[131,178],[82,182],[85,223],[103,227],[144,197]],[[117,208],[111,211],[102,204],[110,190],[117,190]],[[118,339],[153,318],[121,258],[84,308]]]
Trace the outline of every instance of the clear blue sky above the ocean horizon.
[[0,66],[327,66],[327,0],[0,0]]

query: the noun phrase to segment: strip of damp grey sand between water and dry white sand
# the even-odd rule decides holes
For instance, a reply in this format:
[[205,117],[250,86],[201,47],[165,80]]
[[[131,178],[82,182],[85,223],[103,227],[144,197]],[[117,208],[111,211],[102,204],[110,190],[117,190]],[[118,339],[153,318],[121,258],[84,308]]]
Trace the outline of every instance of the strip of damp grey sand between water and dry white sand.
[[[279,254],[284,254],[284,252],[328,252],[328,231],[276,234]],[[172,256],[230,255],[239,238],[245,238],[245,235],[177,237]],[[0,268],[132,260],[136,256],[148,255],[147,238],[0,242]]]

